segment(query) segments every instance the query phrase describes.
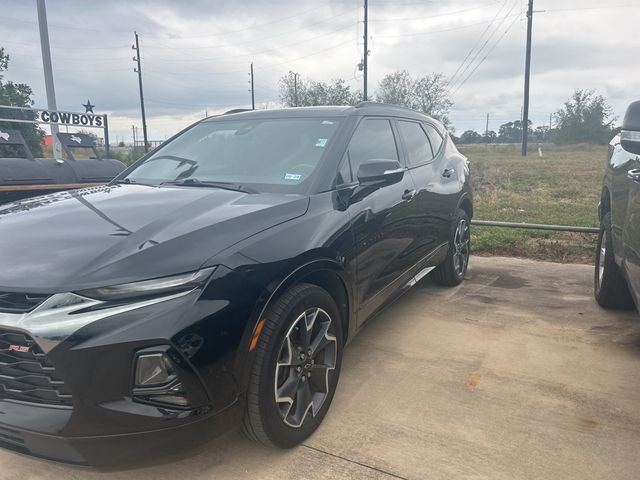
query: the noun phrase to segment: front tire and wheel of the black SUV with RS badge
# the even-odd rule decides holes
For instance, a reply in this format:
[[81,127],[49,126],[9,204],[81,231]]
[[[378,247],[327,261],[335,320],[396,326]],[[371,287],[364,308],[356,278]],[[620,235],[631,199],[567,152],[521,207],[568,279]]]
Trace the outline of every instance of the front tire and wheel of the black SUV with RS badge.
[[[310,319],[312,314],[309,312],[314,309],[318,311],[312,321]],[[242,429],[249,438],[264,445],[290,448],[300,444],[318,428],[331,405],[342,364],[342,322],[338,307],[331,295],[316,285],[304,283],[295,285],[282,294],[268,307],[263,318],[265,324],[255,350],[255,360],[247,390],[247,411]],[[313,357],[318,363],[314,364],[310,358],[300,360],[302,352],[293,348],[296,340],[299,345],[304,343],[302,339],[304,330],[299,328],[300,322],[304,322],[304,325],[307,323],[313,325],[312,339],[322,338],[327,343],[325,347],[318,348],[318,353]],[[317,337],[313,337],[316,329],[317,332],[321,332],[324,328],[326,328],[325,334],[318,333]],[[334,338],[335,342],[327,340],[329,337]],[[287,338],[290,338],[291,342],[286,342]],[[314,342],[311,342],[311,345],[313,346]],[[291,366],[283,366],[283,363],[287,363],[287,352],[291,352],[288,356],[290,359],[288,363]],[[294,352],[298,353],[294,354]],[[322,355],[321,361],[318,360],[320,355]],[[293,364],[298,361],[300,364],[294,366]],[[330,365],[332,361],[333,369],[322,368],[321,362]],[[297,371],[298,368],[302,370],[301,374]],[[309,376],[308,380],[305,378],[303,381],[305,372]],[[295,384],[296,378],[297,384]],[[285,384],[295,384],[292,390],[297,392],[296,399],[292,400],[289,406],[294,414],[285,412],[288,402],[276,401],[276,389],[282,389]],[[304,410],[305,402],[299,401],[298,397],[302,398],[305,395],[300,392],[305,388],[313,391],[320,384],[326,393],[320,394],[324,397],[321,403],[319,402],[318,409],[314,409],[315,405],[309,406],[304,415],[296,416],[299,405],[302,406],[300,411]],[[289,398],[293,397],[294,395],[291,395]],[[308,402],[307,405],[309,405]],[[296,425],[297,422],[300,424]]]

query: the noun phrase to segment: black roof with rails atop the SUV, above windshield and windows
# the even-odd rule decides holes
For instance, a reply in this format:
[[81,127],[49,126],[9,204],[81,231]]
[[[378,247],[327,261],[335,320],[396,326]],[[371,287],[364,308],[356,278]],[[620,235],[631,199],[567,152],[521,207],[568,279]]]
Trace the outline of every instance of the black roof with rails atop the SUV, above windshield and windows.
[[315,115],[332,116],[332,117],[348,117],[352,115],[387,115],[402,118],[411,118],[414,120],[431,120],[440,123],[437,120],[424,115],[423,113],[411,110],[410,108],[400,107],[398,105],[389,105],[378,102],[360,102],[355,106],[317,106],[317,107],[292,107],[277,108],[270,110],[230,110],[222,115],[210,117],[204,121],[215,121],[221,117],[233,116],[242,118],[284,118],[284,117],[312,117]]

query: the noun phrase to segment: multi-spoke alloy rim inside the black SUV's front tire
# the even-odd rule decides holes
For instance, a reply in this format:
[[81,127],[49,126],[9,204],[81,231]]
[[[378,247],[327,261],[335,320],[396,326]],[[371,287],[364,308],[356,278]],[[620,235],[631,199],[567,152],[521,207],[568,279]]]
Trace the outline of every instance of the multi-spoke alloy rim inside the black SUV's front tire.
[[332,319],[321,308],[302,313],[287,332],[275,372],[275,401],[283,422],[300,428],[316,416],[329,394],[338,345]]

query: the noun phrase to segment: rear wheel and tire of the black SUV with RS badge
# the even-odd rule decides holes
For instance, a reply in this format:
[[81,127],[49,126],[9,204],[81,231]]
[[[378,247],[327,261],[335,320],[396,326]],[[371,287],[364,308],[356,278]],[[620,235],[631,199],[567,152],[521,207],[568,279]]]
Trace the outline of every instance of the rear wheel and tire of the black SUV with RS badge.
[[[431,278],[436,283],[447,287],[455,287],[462,283],[467,273],[469,255],[471,253],[471,223],[469,215],[459,208],[454,218],[451,225],[447,258],[431,273]],[[462,228],[462,231],[459,230],[460,228]]]

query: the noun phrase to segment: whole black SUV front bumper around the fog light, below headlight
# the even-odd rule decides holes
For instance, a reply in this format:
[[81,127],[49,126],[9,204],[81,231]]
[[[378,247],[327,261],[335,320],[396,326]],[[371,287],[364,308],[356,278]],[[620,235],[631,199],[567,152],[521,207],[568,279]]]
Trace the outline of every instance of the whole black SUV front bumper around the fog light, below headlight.
[[[243,297],[236,299],[230,291]],[[119,312],[63,335],[43,329],[35,336],[44,346],[40,350],[16,338],[29,337],[31,328],[0,321],[0,362],[10,355],[56,372],[47,379],[38,371],[34,379],[16,367],[5,372],[12,378],[0,377],[0,448],[100,469],[123,468],[165,461],[232,430],[244,413],[234,362],[250,315],[249,291],[242,279],[221,267],[203,292]],[[41,344],[45,334],[55,343]],[[186,408],[135,398],[136,354],[158,346],[170,348],[172,360],[179,361],[190,401]],[[46,365],[34,355],[44,356]],[[72,398],[52,405],[57,397],[48,390],[56,380],[63,381]],[[40,398],[42,388],[46,398]],[[20,389],[29,397],[16,395]]]

